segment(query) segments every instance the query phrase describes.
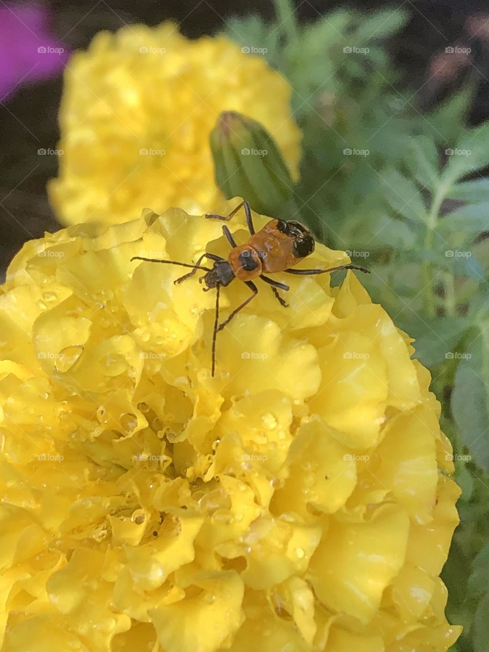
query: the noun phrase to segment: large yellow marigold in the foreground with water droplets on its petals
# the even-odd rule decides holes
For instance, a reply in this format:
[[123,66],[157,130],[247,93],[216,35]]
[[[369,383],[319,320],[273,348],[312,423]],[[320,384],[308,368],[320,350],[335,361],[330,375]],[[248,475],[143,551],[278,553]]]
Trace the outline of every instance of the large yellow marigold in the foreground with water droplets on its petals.
[[207,247],[219,222],[145,210],[12,261],[1,652],[445,651],[459,490],[411,340],[353,273],[291,276],[289,308],[263,287],[219,334],[212,378],[213,292],[131,261]]

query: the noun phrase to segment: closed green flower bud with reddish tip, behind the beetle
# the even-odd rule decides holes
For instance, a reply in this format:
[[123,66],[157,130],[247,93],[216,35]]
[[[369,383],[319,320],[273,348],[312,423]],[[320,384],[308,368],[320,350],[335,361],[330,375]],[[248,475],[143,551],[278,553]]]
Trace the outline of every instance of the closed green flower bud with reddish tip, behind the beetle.
[[293,181],[273,136],[256,120],[224,111],[211,132],[216,185],[226,199],[239,196],[261,215],[280,215]]

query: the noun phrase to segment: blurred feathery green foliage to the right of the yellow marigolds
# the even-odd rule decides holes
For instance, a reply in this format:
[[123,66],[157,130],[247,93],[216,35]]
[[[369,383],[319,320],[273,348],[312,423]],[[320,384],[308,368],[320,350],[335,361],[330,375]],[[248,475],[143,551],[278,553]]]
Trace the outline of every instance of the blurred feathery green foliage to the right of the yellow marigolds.
[[[227,33],[260,49],[293,87],[304,157],[282,212],[370,266],[371,295],[416,339],[432,372],[463,490],[443,574],[449,618],[464,625],[453,649],[486,651],[489,123],[467,128],[468,85],[431,113],[417,108],[416,89],[398,89],[382,40],[404,25],[404,12],[338,10],[301,26],[288,0],[278,0],[276,14],[273,25],[235,20]],[[246,196],[240,183],[235,177],[232,194]],[[266,196],[268,182],[258,183]]]

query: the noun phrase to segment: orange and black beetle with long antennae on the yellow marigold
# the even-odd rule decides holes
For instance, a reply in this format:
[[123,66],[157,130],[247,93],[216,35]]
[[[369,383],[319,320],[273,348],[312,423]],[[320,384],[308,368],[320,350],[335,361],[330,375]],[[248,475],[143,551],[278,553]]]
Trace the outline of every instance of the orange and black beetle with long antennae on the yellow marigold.
[[[205,274],[199,279],[204,284],[203,291],[207,292],[210,289],[216,290],[216,312],[213,330],[213,344],[212,344],[212,376],[215,376],[216,370],[216,338],[219,331],[230,323],[231,319],[235,317],[238,312],[243,310],[245,306],[256,297],[258,294],[258,287],[254,280],[261,278],[265,283],[271,286],[271,289],[284,308],[288,307],[288,303],[278,293],[279,289],[284,291],[289,290],[289,286],[280,281],[269,278],[265,273],[286,272],[288,274],[300,274],[308,276],[312,274],[325,274],[327,272],[334,272],[339,269],[357,269],[361,272],[368,273],[369,270],[359,265],[338,265],[337,267],[329,267],[328,269],[293,269],[299,261],[310,256],[314,252],[316,242],[312,233],[300,222],[295,220],[281,220],[275,219],[267,222],[260,231],[255,231],[253,225],[253,218],[248,201],[242,201],[240,204],[231,211],[229,215],[217,215],[216,213],[207,213],[206,218],[216,220],[230,220],[236,213],[244,208],[246,215],[246,225],[250,231],[250,238],[245,244],[236,244],[231,231],[226,225],[222,226],[222,231],[226,239],[231,245],[231,251],[228,259],[222,256],[216,256],[209,252],[203,253],[195,264],[181,263],[175,260],[160,260],[157,258],[144,258],[143,256],[133,256],[133,260],[143,260],[149,263],[166,263],[168,265],[179,265],[180,267],[190,267],[192,271],[188,274],[180,276],[173,281],[174,284],[179,284],[187,278],[194,276],[198,269],[205,271]],[[213,267],[205,267],[201,265],[204,258],[213,261]],[[235,278],[243,281],[252,294],[235,308],[227,319],[219,323],[219,291],[220,288],[226,288],[231,281]]]

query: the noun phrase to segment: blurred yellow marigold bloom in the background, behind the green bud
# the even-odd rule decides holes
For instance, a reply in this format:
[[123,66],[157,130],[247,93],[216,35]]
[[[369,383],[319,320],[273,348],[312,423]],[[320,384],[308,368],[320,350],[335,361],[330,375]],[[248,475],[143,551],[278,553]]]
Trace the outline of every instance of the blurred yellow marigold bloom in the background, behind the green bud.
[[65,224],[126,222],[141,206],[219,211],[209,135],[230,110],[263,124],[297,177],[290,96],[262,57],[223,36],[188,40],[173,23],[99,33],[65,71],[53,207]]

